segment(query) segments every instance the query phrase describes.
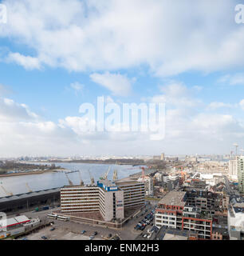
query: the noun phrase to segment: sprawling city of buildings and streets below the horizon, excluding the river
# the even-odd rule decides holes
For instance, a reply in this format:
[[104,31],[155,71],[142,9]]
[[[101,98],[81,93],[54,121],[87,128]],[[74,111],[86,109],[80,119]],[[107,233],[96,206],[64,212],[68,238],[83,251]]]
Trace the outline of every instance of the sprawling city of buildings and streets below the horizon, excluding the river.
[[[109,180],[109,167],[100,179],[95,180],[89,172],[90,184],[85,185],[80,177],[80,184],[75,185],[68,174],[79,170],[65,170],[69,186],[37,194],[30,190],[29,194],[19,194],[18,200],[2,185],[7,196],[0,198],[0,210],[10,216],[22,212],[25,220],[8,218],[7,222],[15,224],[2,229],[2,238],[37,239],[30,223],[37,228],[42,225],[41,230],[48,233],[41,239],[52,240],[54,230],[63,238],[66,224],[73,223],[72,234],[77,228],[83,230],[81,240],[244,239],[244,157],[237,150],[230,155],[21,157],[2,159],[2,164],[49,162],[57,169],[53,162],[82,165],[90,161],[114,166],[140,161],[140,172],[118,179],[114,169]],[[48,231],[49,225],[53,231]],[[107,229],[111,233],[106,236]]]

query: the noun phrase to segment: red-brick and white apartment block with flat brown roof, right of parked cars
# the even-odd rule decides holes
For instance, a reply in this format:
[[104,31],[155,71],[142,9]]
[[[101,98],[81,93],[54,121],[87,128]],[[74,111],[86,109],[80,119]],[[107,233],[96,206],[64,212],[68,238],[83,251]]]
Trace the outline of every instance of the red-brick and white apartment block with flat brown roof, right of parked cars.
[[159,228],[189,230],[200,239],[211,239],[211,215],[199,207],[187,206],[187,192],[171,191],[159,201],[155,212],[155,226]]

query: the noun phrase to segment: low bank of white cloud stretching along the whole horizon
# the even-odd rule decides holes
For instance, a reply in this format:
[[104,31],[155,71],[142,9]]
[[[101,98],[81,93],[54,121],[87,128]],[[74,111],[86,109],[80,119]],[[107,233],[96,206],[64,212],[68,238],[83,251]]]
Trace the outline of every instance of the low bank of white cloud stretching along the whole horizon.
[[[150,133],[118,133],[118,124],[112,127],[112,132],[85,132],[83,127],[88,120],[81,116],[68,116],[58,122],[43,121],[25,104],[1,98],[0,142],[4,148],[2,156],[158,154],[162,146],[167,154],[211,154],[218,151],[229,152],[229,147],[235,141],[244,143],[244,126],[234,115],[192,110],[190,105],[180,102],[181,97],[188,91],[183,85],[164,86],[162,91],[171,102],[171,106],[167,108],[166,137],[163,141],[150,140]],[[108,98],[107,102],[111,101],[112,98]],[[198,102],[198,99],[192,99],[189,94],[187,101]],[[244,100],[240,102],[240,106],[244,106]],[[89,121],[96,126],[96,120]]]

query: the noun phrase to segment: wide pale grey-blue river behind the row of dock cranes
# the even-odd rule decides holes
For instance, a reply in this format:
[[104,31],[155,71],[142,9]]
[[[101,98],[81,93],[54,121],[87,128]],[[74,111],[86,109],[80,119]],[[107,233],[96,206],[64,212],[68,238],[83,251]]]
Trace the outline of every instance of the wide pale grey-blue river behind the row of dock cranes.
[[[47,163],[37,163],[36,164],[47,164]],[[105,165],[105,164],[85,164],[85,163],[63,163],[54,162],[56,166],[61,166],[67,170],[80,170],[81,178],[85,184],[90,183],[89,170],[92,176],[95,178],[95,182],[99,180],[101,176],[108,170],[109,166],[111,170],[108,174],[108,179],[112,180],[113,170],[117,170],[118,178],[126,178],[130,174],[136,174],[140,172],[140,166],[119,166],[119,165]],[[79,173],[69,174],[69,179],[74,185],[80,184]],[[0,185],[4,186],[6,191],[13,194],[22,194],[29,192],[28,186],[32,191],[47,190],[55,187],[68,186],[69,182],[65,177],[65,173],[58,172],[48,172],[45,174],[33,174],[33,175],[23,175],[14,177],[4,177],[0,178]],[[6,192],[0,186],[0,198],[6,196]]]

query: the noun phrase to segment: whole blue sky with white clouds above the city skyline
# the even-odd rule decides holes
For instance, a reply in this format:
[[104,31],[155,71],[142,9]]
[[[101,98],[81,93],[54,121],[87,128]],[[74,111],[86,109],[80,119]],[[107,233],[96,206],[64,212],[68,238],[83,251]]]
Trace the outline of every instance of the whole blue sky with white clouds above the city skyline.
[[[0,157],[244,147],[242,0],[3,0]],[[83,103],[164,103],[165,137],[92,131]],[[96,120],[92,120],[96,123]]]

